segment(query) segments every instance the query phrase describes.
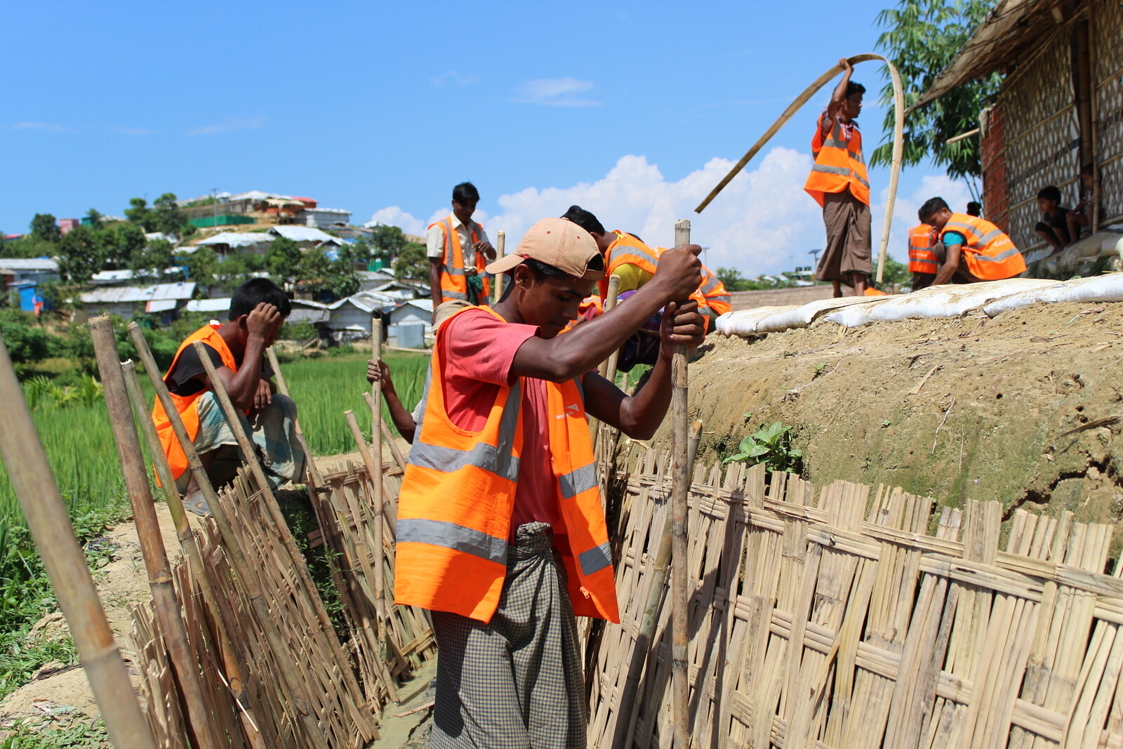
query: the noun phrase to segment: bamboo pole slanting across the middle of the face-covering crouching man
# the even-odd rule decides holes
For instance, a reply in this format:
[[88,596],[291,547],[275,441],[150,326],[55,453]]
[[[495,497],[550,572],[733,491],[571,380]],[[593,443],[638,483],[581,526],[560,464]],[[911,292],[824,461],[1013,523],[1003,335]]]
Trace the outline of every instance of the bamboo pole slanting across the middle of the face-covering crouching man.
[[[207,372],[207,377],[210,380],[211,390],[218,398],[219,404],[222,407],[222,413],[226,415],[226,421],[229,424],[230,430],[234,432],[235,439],[238,440],[238,447],[241,448],[241,457],[249,466],[249,472],[254,476],[254,482],[257,484],[257,487],[262,493],[262,499],[264,500],[263,504],[266,509],[264,517],[267,521],[270,521],[273,532],[277,535],[282,545],[285,547],[285,550],[289,552],[292,566],[296,569],[296,576],[300,578],[302,587],[304,588],[304,599],[311,604],[312,611],[316,612],[316,618],[320,623],[320,629],[328,638],[328,643],[335,654],[336,661],[339,665],[339,673],[344,678],[344,686],[347,692],[350,693],[355,704],[360,705],[364,703],[363,691],[358,686],[354,672],[351,672],[350,660],[347,658],[347,654],[344,650],[343,645],[339,642],[339,636],[336,634],[336,629],[331,623],[331,619],[328,616],[328,611],[323,608],[323,600],[320,597],[320,592],[317,590],[316,583],[312,582],[312,576],[308,572],[308,563],[304,560],[304,556],[301,554],[300,549],[296,548],[296,544],[292,538],[292,532],[289,530],[289,524],[285,521],[284,515],[281,514],[276,496],[273,494],[268,479],[265,477],[265,469],[262,468],[262,464],[257,459],[257,453],[254,450],[254,445],[249,440],[249,437],[246,436],[246,430],[241,426],[241,412],[234,407],[234,403],[230,401],[230,395],[226,392],[226,386],[222,384],[222,381],[219,380],[218,373],[214,371],[214,364],[207,354],[206,344],[201,340],[197,340],[192,345],[195,347],[195,351],[199,354],[199,360],[202,362],[203,369]],[[373,725],[362,725],[362,723],[360,728],[363,730],[374,730]]]

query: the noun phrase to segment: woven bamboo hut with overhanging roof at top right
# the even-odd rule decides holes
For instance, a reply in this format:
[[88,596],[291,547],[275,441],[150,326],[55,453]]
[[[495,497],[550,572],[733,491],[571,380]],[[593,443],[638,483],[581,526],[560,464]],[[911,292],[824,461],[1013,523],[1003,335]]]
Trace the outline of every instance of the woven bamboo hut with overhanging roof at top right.
[[[1004,73],[980,117],[984,216],[1033,263],[1049,255],[1034,231],[1038,191],[1078,200],[1079,173],[1095,165],[1101,210],[1093,236],[1049,258],[1052,277],[1111,258],[1123,231],[1123,8],[1119,0],[999,0],[914,104]],[[1032,271],[1031,271],[1032,273]],[[1066,276],[1067,277],[1067,276]]]

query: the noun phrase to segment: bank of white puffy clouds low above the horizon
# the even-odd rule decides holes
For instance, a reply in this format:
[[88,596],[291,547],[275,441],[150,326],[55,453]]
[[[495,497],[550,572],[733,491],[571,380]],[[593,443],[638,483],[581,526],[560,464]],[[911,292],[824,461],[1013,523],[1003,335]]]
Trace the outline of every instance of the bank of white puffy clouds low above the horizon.
[[[608,174],[593,182],[567,188],[527,188],[502,194],[497,199],[497,216],[476,211],[473,218],[484,225],[492,241],[500,229],[504,230],[508,252],[513,252],[535,221],[560,216],[572,204],[595,213],[606,229],[633,231],[649,245],[661,247],[674,241],[675,220],[688,218],[693,223],[692,239],[707,248],[703,261],[711,268],[733,267],[757,276],[811,265],[809,250],[821,248],[825,241],[822,210],[803,191],[811,155],[776,147],[755,164],[756,168],[734,177],[701,216],[694,208],[733,162],[713,158],[682,180],[669,182],[645,156],[623,156]],[[883,190],[879,202],[871,209],[875,257],[880,250],[887,194],[888,190]],[[888,246],[891,256],[907,257],[905,238],[916,223],[916,209],[937,194],[960,209],[969,200],[962,183],[942,175],[923,177],[913,194],[897,198]],[[426,226],[448,212],[447,207],[439,208],[422,222],[394,205],[376,211],[372,219],[400,226],[409,234],[423,234]]]

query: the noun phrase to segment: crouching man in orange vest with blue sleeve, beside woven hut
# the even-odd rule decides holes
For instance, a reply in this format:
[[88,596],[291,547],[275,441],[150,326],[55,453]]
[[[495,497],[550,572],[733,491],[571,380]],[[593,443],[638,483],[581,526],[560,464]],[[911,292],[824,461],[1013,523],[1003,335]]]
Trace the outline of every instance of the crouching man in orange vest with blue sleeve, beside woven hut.
[[955,213],[943,198],[921,205],[920,217],[941,239],[932,247],[940,263],[933,286],[999,281],[1025,272],[1025,258],[1013,240],[986,219]]

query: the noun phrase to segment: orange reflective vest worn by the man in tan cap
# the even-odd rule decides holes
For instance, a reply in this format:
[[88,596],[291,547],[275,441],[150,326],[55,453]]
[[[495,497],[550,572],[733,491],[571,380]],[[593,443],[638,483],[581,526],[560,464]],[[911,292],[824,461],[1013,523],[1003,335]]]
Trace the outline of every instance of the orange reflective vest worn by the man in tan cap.
[[[486,307],[467,309],[503,319]],[[426,408],[399,497],[394,601],[487,622],[506,576],[522,453],[523,383],[520,377],[511,387],[499,389],[483,429],[457,427],[445,404],[442,382],[441,340],[448,329],[442,325],[437,330]],[[547,383],[547,403],[562,518],[554,533],[574,613],[619,622],[581,381]]]

